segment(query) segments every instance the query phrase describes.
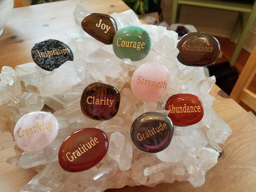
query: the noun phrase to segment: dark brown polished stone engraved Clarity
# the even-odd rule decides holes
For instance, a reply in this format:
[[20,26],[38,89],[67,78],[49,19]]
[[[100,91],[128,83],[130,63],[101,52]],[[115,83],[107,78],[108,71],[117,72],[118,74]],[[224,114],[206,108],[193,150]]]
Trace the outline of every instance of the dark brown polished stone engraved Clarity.
[[81,97],[81,109],[86,117],[106,120],[114,117],[119,109],[120,93],[111,85],[92,83],[85,87]]

